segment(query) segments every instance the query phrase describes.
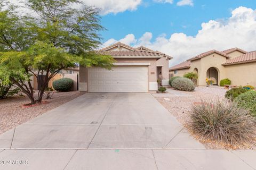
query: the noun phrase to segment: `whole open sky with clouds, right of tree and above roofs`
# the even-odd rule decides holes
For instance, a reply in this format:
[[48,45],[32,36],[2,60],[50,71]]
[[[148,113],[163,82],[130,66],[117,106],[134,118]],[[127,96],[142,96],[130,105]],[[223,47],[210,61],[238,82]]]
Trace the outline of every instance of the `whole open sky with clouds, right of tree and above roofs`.
[[170,66],[212,49],[256,50],[256,0],[81,1],[101,8],[102,47],[143,45],[171,55]]

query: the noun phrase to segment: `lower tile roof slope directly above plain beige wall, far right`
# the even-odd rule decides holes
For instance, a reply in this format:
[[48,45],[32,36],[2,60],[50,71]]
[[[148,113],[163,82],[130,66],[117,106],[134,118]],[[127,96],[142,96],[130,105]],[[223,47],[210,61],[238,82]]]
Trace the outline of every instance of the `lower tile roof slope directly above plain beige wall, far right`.
[[226,63],[222,65],[241,64],[249,62],[256,62],[256,51],[249,52],[233,59],[227,60]]

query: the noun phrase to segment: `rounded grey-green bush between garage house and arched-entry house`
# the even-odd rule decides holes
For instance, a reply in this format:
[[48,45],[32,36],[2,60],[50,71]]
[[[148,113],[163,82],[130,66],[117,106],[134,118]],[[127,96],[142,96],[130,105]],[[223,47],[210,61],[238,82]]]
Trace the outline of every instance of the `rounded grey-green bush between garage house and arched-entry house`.
[[172,87],[182,91],[193,91],[195,90],[195,84],[193,81],[187,78],[177,78],[172,81]]

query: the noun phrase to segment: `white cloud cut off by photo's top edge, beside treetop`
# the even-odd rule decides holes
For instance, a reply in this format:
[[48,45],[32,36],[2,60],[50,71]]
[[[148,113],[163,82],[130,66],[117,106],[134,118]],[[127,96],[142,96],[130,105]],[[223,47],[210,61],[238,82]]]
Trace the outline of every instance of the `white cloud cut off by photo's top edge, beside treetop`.
[[[21,5],[25,0],[9,0],[13,4]],[[141,4],[142,0],[82,0],[85,5],[101,8],[101,14],[119,13],[124,11],[134,11]],[[74,5],[79,7],[79,5]]]

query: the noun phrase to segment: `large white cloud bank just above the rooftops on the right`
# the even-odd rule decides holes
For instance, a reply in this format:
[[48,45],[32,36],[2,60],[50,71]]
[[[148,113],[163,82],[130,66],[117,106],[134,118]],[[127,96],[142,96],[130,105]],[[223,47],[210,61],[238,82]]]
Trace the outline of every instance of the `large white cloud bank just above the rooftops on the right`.
[[247,51],[256,50],[256,10],[241,6],[231,14],[225,21],[210,20],[202,23],[202,29],[193,37],[185,33],[173,33],[170,38],[163,34],[153,40],[152,33],[146,32],[139,40],[129,35],[132,37],[129,42],[132,42],[133,46],[145,45],[173,56],[170,65],[212,49],[238,47]]

